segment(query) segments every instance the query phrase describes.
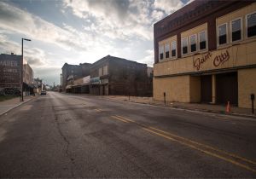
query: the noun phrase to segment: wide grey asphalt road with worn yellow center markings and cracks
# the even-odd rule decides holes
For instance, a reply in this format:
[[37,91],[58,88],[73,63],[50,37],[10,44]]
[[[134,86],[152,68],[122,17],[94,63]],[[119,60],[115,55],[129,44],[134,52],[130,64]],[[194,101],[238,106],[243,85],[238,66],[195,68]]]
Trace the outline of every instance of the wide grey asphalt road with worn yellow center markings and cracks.
[[0,177],[256,177],[256,121],[49,92],[0,117]]

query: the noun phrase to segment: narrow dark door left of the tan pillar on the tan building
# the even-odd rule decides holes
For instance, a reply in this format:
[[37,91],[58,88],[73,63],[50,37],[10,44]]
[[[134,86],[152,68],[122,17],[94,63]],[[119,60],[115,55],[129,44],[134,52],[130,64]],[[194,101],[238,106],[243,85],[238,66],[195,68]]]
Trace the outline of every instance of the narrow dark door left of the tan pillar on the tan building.
[[201,102],[212,102],[212,75],[201,76]]

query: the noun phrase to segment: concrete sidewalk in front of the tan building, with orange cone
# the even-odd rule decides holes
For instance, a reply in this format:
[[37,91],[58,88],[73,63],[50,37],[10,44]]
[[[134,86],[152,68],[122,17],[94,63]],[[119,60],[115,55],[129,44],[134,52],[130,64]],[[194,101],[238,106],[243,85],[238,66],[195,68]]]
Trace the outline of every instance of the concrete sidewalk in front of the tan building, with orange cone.
[[254,109],[254,114],[252,113],[252,109],[241,108],[241,107],[230,107],[230,113],[226,113],[226,107],[224,105],[212,105],[212,104],[201,104],[201,103],[183,103],[183,102],[166,102],[164,101],[154,101],[152,97],[137,97],[130,96],[130,100],[128,96],[123,95],[101,95],[99,96],[104,99],[115,100],[115,101],[127,101],[127,102],[137,102],[143,104],[150,104],[156,106],[163,107],[173,107],[173,108],[181,108],[186,110],[200,111],[200,112],[208,112],[208,113],[224,113],[231,114],[236,116],[245,116],[250,118],[256,118],[256,110]]

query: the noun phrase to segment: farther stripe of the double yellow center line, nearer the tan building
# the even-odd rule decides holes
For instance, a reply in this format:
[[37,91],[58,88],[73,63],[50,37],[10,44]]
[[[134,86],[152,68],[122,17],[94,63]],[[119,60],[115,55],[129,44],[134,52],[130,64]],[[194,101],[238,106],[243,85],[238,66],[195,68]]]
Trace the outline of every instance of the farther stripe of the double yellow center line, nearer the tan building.
[[174,135],[174,134],[172,134],[172,133],[170,133],[170,132],[166,132],[166,131],[164,131],[164,130],[159,130],[159,129],[156,129],[156,128],[154,128],[154,127],[149,127],[149,128],[150,128],[150,129],[153,129],[153,130],[160,131],[160,132],[162,132],[162,133],[164,133],[164,134],[166,134],[166,135],[170,135],[170,136],[177,137],[177,138],[182,139],[182,140],[184,140],[184,141],[189,141],[189,142],[194,143],[194,144],[196,144],[196,145],[199,145],[199,146],[201,146],[201,147],[206,147],[206,148],[212,149],[212,150],[214,150],[214,151],[217,151],[218,153],[224,153],[224,154],[226,154],[226,155],[229,155],[230,157],[233,157],[233,158],[236,158],[236,159],[241,159],[242,161],[245,161],[245,162],[247,162],[247,163],[256,165],[256,162],[254,162],[254,161],[252,161],[252,160],[250,160],[250,159],[242,158],[242,157],[240,157],[240,156],[238,156],[238,155],[236,155],[236,154],[234,154],[234,153],[227,153],[227,152],[225,152],[225,151],[223,151],[223,150],[220,150],[220,149],[218,149],[218,148],[211,147],[211,146],[208,146],[208,145],[206,145],[206,144],[199,143],[199,142],[197,142],[197,141],[192,141],[192,140],[189,140],[189,139],[184,138],[184,137],[182,137],[182,136],[177,136],[177,135]]

